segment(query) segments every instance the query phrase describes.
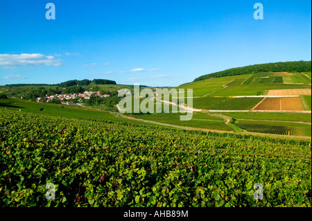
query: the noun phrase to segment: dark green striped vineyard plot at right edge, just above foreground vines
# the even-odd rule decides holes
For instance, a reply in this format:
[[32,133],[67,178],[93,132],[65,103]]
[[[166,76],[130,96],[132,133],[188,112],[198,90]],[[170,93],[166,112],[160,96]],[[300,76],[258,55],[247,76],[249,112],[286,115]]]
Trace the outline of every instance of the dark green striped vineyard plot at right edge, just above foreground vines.
[[275,123],[270,125],[268,122],[254,123],[254,121],[239,121],[237,125],[248,132],[257,132],[262,134],[279,134],[290,136],[311,136],[311,125],[295,124],[295,125],[281,125],[282,123]]

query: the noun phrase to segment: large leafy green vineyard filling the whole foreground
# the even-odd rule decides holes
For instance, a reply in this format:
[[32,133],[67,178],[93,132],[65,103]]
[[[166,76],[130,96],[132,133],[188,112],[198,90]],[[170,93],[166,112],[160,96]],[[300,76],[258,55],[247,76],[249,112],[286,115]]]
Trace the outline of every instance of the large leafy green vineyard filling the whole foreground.
[[4,109],[0,118],[0,206],[311,206],[311,141]]

